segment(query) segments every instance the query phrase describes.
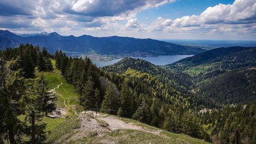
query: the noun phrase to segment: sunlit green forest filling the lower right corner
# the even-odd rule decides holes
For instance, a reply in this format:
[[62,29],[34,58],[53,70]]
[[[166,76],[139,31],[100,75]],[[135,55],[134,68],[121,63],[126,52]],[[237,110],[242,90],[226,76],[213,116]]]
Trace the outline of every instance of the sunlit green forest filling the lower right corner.
[[255,143],[256,102],[229,105],[223,109],[199,113],[201,124],[211,133],[214,143],[235,143],[234,132],[239,130],[241,143]]

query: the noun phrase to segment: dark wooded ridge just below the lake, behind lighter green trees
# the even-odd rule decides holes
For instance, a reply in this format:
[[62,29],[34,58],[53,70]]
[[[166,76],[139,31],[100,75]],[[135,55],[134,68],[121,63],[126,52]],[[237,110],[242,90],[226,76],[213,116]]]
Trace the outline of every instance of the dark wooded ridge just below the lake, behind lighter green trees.
[[116,64],[103,67],[103,69],[109,72],[120,74],[124,73],[129,68],[154,75],[159,78],[162,83],[180,92],[186,92],[193,87],[192,79],[188,74],[172,72],[138,58],[123,58]]

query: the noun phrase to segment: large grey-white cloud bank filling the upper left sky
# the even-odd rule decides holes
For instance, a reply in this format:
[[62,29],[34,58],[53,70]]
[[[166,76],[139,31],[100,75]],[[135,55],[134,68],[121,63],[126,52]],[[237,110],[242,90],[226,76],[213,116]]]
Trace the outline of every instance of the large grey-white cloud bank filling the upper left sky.
[[[159,7],[174,0],[66,0],[66,1],[33,1],[33,0],[2,0],[0,1],[0,16],[23,18],[57,19],[62,22],[73,20],[81,24],[91,24],[92,27],[114,22],[115,20],[131,19],[137,12]],[[26,17],[27,16],[27,17]],[[97,21],[95,23],[95,21]],[[31,20],[28,20],[31,23]],[[20,27],[22,25],[18,25]]]

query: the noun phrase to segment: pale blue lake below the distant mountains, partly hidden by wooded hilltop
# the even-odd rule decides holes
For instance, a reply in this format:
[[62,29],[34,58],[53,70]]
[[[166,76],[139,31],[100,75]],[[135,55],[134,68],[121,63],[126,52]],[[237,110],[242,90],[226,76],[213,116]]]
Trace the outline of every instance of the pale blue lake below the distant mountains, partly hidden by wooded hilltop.
[[[190,56],[193,56],[193,55],[160,55],[156,57],[134,57],[134,58],[144,59],[146,61],[150,61],[150,63],[154,65],[163,66],[167,64],[172,64],[180,59],[190,57]],[[104,66],[115,64],[122,59],[123,58],[113,59],[109,61],[93,61],[93,63],[98,67],[104,67]]]

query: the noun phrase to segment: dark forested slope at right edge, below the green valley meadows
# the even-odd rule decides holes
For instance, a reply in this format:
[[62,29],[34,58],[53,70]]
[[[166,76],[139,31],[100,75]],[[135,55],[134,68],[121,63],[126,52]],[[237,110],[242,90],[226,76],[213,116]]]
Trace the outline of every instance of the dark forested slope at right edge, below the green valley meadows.
[[197,95],[218,104],[240,104],[256,97],[256,67],[240,68],[209,78],[197,88]]

